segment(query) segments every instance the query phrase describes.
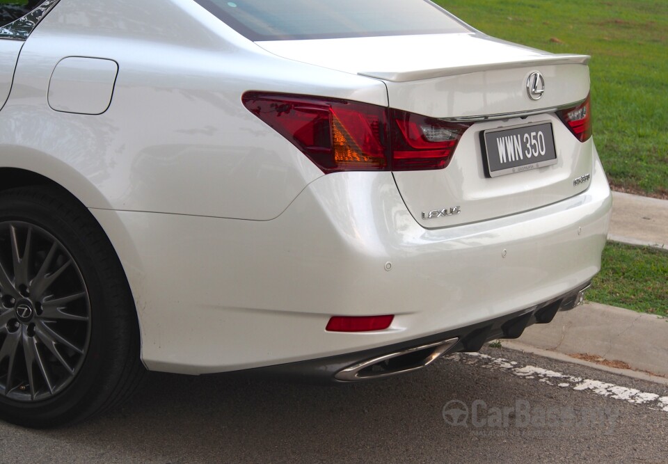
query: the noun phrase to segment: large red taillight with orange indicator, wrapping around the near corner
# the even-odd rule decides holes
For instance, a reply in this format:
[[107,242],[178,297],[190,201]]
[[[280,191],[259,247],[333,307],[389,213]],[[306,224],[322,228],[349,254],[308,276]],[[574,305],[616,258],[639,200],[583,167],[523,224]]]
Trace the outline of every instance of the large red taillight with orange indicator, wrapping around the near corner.
[[242,102],[326,174],[445,168],[469,126],[341,99],[247,92]]

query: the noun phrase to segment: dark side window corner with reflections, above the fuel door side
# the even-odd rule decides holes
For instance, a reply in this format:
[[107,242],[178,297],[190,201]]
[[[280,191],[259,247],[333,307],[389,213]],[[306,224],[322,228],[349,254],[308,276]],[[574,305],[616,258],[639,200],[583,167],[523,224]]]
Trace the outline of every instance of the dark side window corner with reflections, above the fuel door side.
[[26,40],[58,0],[0,0],[0,39]]

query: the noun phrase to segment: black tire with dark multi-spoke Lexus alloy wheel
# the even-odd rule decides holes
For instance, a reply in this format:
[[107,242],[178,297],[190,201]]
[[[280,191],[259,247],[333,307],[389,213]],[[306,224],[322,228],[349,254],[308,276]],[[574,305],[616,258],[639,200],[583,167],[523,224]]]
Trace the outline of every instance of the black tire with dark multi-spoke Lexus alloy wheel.
[[43,428],[125,401],[145,374],[125,273],[57,187],[0,193],[0,418]]

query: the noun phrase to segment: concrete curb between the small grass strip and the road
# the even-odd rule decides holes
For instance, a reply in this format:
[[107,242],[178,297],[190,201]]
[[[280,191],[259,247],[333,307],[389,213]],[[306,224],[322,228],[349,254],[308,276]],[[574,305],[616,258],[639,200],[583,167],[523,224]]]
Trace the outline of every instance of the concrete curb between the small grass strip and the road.
[[[502,341],[503,343],[503,341]],[[525,330],[516,344],[565,355],[589,354],[668,377],[668,319],[586,303]]]

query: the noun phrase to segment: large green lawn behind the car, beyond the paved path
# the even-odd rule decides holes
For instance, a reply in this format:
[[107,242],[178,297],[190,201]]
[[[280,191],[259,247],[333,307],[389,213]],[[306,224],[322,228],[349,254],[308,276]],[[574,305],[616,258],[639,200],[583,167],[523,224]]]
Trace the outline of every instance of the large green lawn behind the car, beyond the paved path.
[[436,3],[489,35],[591,55],[594,138],[610,183],[668,196],[668,1]]

